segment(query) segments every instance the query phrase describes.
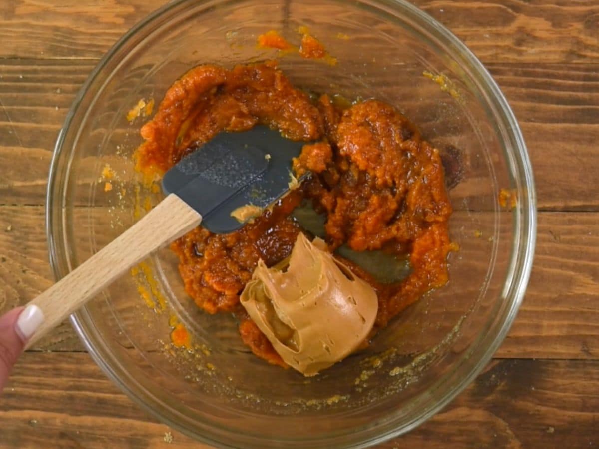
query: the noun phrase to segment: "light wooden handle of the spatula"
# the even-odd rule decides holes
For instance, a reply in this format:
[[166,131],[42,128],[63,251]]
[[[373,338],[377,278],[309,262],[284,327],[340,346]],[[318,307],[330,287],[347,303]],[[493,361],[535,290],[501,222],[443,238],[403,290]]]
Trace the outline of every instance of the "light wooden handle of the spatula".
[[171,193],[139,222],[29,304],[44,313],[30,347],[149,254],[198,226],[202,216]]

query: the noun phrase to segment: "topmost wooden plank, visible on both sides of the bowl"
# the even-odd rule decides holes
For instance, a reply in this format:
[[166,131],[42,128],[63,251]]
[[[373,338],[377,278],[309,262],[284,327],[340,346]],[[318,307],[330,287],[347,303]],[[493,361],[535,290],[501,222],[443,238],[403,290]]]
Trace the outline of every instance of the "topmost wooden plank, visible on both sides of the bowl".
[[[0,57],[97,59],[164,0],[14,0],[0,9]],[[418,0],[483,62],[599,57],[597,1]],[[476,10],[476,14],[473,11]]]

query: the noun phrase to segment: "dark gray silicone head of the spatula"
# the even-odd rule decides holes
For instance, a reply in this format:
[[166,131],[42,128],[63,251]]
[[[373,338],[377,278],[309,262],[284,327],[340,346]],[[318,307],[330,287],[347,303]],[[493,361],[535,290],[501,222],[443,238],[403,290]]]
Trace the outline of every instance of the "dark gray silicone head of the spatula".
[[265,208],[289,190],[291,160],[304,144],[266,126],[222,132],[171,168],[162,190],[198,211],[211,232],[232,232],[244,225],[232,211],[248,204]]

